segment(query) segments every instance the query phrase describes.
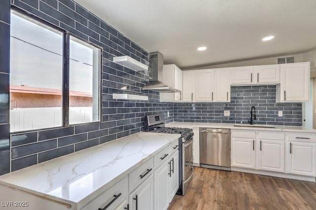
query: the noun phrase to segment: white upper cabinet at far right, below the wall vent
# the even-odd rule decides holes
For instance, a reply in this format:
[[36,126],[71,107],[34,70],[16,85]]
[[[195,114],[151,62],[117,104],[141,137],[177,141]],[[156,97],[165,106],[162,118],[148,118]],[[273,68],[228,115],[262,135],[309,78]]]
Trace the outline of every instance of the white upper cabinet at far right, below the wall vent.
[[280,84],[276,85],[276,102],[309,101],[310,62],[281,64]]

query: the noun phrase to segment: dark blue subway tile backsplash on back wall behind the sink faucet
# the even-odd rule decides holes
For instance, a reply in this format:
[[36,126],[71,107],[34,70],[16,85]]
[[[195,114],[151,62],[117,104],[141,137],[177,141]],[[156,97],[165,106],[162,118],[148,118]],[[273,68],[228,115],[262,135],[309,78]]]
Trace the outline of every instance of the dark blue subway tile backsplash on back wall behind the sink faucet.
[[[247,123],[251,106],[256,108],[253,124],[302,126],[302,103],[276,103],[275,85],[231,87],[230,103],[176,104],[174,121]],[[230,116],[224,116],[224,110],[230,110]]]

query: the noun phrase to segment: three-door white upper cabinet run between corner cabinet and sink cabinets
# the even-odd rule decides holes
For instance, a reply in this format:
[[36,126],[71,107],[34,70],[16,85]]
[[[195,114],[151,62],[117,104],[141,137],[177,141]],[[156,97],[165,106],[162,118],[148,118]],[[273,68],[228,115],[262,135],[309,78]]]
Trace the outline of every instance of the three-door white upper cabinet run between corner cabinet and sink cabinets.
[[183,71],[184,102],[230,102],[229,69]]

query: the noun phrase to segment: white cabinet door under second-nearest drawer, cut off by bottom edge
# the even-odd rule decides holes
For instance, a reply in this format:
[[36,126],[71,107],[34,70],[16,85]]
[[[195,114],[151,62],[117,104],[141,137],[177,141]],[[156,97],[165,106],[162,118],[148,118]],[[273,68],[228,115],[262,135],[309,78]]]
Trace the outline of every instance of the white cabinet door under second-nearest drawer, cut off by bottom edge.
[[154,210],[154,175],[129,194],[130,210]]

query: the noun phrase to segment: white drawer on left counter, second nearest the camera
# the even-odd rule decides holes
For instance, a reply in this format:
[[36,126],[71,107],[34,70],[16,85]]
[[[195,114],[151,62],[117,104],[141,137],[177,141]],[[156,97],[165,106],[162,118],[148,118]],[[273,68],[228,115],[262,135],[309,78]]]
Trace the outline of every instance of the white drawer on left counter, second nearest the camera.
[[128,175],[129,192],[154,173],[154,158],[149,159]]

